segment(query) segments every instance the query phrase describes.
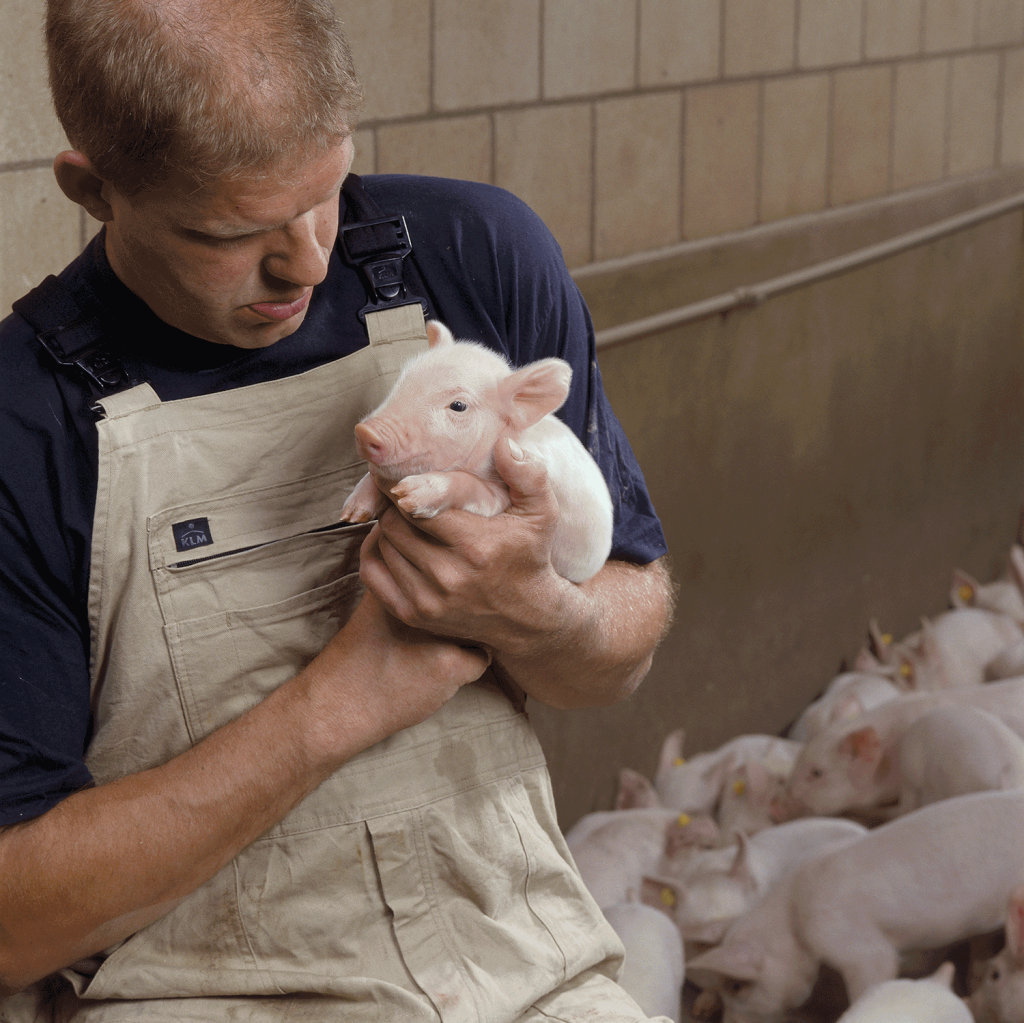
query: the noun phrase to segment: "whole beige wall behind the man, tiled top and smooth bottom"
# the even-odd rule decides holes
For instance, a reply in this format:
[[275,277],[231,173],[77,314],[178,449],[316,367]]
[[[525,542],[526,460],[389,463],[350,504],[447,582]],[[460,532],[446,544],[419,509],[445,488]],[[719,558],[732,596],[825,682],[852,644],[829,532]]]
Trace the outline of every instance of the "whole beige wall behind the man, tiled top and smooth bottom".
[[[515,191],[599,327],[1024,188],[1024,0],[337,3],[367,83],[356,170]],[[41,7],[4,0],[0,311],[96,226],[49,170]],[[564,822],[674,727],[690,750],[781,728],[869,616],[906,631],[953,565],[998,568],[1022,499],[1021,228],[602,352],[680,603],[627,704],[531,712]]]

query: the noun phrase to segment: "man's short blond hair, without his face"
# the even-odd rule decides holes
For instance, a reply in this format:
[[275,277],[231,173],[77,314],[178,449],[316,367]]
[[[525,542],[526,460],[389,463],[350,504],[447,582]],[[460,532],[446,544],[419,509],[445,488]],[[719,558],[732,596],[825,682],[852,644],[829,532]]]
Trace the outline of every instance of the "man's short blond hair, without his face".
[[47,0],[57,117],[128,194],[318,155],[362,93],[332,0]]

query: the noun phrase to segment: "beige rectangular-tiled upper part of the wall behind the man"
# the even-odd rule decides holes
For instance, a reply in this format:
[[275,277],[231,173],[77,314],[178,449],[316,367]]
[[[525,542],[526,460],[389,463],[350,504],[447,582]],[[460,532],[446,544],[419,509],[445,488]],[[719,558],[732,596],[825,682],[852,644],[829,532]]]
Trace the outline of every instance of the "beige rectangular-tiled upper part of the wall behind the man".
[[[1024,0],[336,0],[356,169],[493,181],[572,266],[1024,162]],[[92,225],[49,173],[41,0],[4,0],[0,299]]]

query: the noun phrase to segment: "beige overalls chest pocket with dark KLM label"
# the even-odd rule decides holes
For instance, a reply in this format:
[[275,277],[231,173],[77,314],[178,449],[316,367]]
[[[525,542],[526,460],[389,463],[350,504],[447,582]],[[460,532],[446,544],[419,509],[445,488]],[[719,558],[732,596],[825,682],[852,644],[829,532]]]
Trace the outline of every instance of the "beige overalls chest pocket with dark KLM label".
[[370,526],[339,516],[362,471],[353,463],[150,518],[150,567],[193,742],[301,671],[347,621]]

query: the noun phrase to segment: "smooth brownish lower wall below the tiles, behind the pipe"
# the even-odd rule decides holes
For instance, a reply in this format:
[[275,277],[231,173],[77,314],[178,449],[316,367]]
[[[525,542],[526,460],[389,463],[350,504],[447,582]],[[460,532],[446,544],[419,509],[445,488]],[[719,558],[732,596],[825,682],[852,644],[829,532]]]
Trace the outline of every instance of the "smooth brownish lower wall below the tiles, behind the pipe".
[[[1024,189],[991,172],[681,246],[580,284],[598,328],[775,276]],[[666,527],[676,624],[614,708],[534,710],[562,819],[620,767],[777,733],[852,660],[1001,570],[1024,500],[1020,212],[751,310],[605,349]]]

